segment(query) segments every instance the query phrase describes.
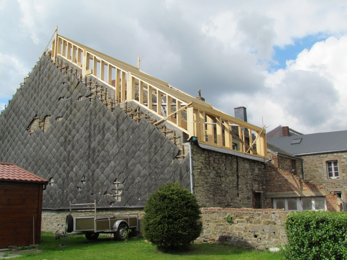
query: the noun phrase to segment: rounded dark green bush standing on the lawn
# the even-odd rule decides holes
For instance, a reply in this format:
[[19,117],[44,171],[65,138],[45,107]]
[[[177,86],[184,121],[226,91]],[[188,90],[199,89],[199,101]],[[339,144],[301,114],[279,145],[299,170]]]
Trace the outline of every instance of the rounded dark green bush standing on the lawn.
[[200,207],[195,196],[178,182],[166,183],[154,191],[144,211],[143,235],[160,249],[186,249],[200,236]]

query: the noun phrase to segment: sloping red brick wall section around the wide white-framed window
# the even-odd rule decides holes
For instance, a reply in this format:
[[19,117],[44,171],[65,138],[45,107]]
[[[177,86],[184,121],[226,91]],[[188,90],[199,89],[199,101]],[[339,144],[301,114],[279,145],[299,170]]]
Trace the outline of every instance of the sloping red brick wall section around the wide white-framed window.
[[[300,179],[298,176],[283,171],[273,164],[267,165],[266,171],[266,191],[268,192],[288,192],[288,191],[323,191],[326,192],[325,199],[327,200],[328,211],[340,211],[341,199],[334,192],[323,189],[321,186]],[[272,207],[272,205],[268,205]]]

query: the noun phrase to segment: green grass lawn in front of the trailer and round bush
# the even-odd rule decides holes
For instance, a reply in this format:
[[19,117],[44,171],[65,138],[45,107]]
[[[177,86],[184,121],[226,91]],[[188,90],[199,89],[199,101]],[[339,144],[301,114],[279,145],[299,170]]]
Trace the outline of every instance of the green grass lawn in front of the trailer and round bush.
[[163,253],[145,239],[129,238],[128,242],[116,241],[110,237],[99,237],[89,241],[85,236],[67,237],[66,248],[59,248],[52,234],[42,233],[42,253],[28,253],[16,259],[284,259],[281,253],[248,250],[241,247],[196,243],[189,251]]

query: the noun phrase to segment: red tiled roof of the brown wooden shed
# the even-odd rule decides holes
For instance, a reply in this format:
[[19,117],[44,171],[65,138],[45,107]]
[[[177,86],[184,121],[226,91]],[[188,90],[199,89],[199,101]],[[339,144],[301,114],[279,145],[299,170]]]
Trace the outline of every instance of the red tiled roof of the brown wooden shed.
[[48,182],[41,177],[18,167],[13,163],[0,162],[0,180]]

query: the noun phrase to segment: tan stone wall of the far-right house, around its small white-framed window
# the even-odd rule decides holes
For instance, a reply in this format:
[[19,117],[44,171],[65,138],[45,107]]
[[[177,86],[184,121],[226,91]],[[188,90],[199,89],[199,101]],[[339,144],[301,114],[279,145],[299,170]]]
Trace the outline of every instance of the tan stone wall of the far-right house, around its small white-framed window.
[[[347,209],[347,152],[300,156],[305,160],[305,179],[330,191],[341,191],[343,208]],[[327,161],[337,161],[339,177],[328,179]]]

